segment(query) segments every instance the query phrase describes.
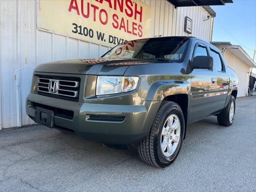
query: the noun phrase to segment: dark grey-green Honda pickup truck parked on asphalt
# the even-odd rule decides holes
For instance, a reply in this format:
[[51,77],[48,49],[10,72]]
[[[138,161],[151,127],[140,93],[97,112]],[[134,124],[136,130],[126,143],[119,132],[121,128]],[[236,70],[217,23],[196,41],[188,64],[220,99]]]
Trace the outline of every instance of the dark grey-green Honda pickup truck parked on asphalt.
[[211,115],[222,126],[233,123],[237,86],[220,51],[203,40],[140,39],[101,58],[37,66],[26,112],[38,124],[85,140],[138,144],[144,162],[166,167],[188,124]]

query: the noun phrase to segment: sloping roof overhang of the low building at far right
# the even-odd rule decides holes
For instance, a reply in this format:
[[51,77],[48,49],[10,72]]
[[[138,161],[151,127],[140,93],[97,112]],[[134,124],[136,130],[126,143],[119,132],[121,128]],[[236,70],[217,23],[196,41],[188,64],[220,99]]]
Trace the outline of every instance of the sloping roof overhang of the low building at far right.
[[236,56],[249,67],[256,68],[256,63],[240,45],[232,45],[230,42],[211,42],[211,44],[217,47],[221,46],[221,48],[225,48],[225,50],[228,50],[231,54]]

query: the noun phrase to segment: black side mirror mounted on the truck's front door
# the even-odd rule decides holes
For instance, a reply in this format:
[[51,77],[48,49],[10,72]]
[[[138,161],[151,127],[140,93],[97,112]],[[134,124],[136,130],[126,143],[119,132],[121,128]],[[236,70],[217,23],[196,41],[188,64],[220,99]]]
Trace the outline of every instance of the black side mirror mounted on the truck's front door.
[[192,62],[194,69],[212,69],[213,58],[211,56],[196,56]]

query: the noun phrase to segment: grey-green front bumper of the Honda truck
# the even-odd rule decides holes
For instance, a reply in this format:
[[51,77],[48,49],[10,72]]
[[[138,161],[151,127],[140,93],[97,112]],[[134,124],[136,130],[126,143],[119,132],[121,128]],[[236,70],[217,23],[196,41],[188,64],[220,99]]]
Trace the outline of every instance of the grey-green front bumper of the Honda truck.
[[[134,94],[137,94],[137,92]],[[131,97],[134,94],[131,94]],[[104,98],[98,100],[98,103],[81,103],[30,93],[26,100],[26,113],[32,119],[35,117],[35,103],[44,107],[50,106],[51,108],[74,112],[73,118],[71,116],[67,118],[58,114],[54,115],[54,128],[74,132],[85,140],[109,144],[140,142],[149,133],[160,105],[160,102],[142,100],[140,102],[134,101],[135,105],[120,103],[114,105],[108,104],[108,102],[104,104]],[[90,116],[98,115],[101,116],[100,119],[90,118]],[[122,120],[102,118],[108,116],[124,118],[120,118]]]

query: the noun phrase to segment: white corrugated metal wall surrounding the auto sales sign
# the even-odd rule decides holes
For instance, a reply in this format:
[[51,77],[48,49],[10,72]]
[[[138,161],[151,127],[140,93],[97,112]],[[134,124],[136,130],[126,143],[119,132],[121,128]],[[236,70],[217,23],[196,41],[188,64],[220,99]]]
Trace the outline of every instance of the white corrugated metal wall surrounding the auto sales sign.
[[[152,8],[151,37],[188,36],[184,32],[184,18],[188,16],[193,20],[191,35],[209,41],[211,21],[203,21],[209,15],[204,8],[175,9],[166,0],[143,2]],[[36,0],[0,0],[0,129],[34,123],[26,115],[25,101],[35,66],[53,60],[99,57],[109,49],[36,30],[36,10]],[[14,81],[14,71],[25,65],[25,57],[28,65]]]

